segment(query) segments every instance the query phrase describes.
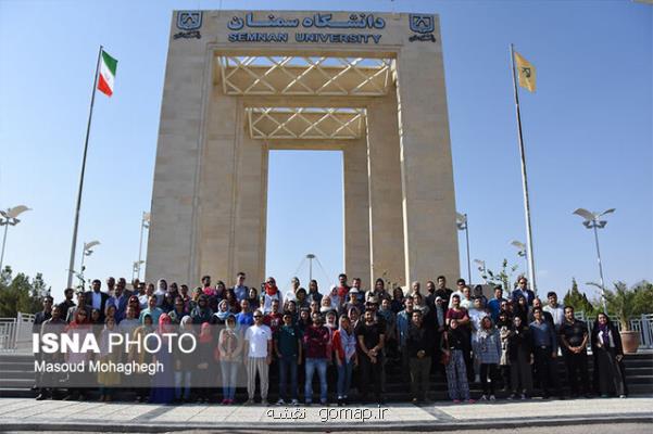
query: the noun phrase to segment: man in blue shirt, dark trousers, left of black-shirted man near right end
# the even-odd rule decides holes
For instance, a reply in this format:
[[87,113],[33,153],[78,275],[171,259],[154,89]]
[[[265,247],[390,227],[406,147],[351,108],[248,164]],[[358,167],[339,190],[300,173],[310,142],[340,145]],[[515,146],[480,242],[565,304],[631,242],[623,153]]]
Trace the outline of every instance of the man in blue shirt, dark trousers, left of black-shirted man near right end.
[[532,316],[535,321],[530,323],[530,332],[532,335],[535,370],[540,381],[542,398],[548,399],[551,396],[551,390],[554,390],[562,399],[556,375],[557,340],[555,339],[555,328],[549,321],[544,321],[541,307],[533,308]]

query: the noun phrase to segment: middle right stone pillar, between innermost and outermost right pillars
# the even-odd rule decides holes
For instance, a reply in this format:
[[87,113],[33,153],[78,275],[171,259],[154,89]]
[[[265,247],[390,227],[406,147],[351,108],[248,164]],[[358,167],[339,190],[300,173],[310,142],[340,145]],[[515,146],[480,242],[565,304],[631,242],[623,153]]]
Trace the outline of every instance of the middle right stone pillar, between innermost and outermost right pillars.
[[371,282],[377,278],[404,285],[403,214],[397,95],[367,106],[369,170]]

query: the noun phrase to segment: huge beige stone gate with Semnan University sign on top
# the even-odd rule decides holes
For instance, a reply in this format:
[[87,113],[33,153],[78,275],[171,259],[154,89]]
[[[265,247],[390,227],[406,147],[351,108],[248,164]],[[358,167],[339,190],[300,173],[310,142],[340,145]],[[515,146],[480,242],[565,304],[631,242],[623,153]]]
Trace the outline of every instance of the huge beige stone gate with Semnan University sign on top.
[[263,281],[269,150],[342,152],[350,279],[459,277],[437,15],[174,12],[148,281]]

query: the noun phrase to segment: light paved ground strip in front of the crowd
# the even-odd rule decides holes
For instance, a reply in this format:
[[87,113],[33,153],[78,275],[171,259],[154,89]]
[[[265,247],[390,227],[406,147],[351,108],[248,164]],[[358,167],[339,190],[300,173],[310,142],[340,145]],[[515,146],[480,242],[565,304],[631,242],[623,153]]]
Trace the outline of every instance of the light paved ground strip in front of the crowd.
[[428,406],[298,407],[0,399],[0,431],[424,430],[653,422],[653,397]]

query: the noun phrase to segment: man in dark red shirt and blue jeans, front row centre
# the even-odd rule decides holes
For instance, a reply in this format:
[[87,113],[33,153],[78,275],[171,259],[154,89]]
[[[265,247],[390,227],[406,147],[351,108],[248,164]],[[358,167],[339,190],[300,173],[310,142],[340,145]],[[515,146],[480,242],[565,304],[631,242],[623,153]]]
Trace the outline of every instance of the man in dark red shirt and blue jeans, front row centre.
[[304,331],[303,341],[306,349],[306,376],[304,381],[304,398],[306,406],[313,401],[313,374],[317,370],[319,376],[319,403],[327,404],[326,367],[331,361],[331,332],[322,324],[318,312],[312,315],[313,323]]

